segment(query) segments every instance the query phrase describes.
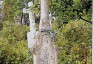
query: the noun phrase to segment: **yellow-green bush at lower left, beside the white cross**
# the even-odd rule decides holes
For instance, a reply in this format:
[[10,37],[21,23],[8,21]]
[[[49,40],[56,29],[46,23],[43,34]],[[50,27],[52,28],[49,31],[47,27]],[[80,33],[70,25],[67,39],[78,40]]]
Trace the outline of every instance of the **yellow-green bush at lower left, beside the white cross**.
[[27,26],[3,22],[0,31],[0,64],[32,64],[32,54],[27,48]]

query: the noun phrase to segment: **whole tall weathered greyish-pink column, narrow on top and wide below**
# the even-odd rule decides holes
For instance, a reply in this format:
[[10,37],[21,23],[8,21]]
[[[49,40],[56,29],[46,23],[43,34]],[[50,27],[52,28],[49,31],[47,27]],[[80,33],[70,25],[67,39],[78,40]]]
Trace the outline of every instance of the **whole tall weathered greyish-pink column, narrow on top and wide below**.
[[33,47],[33,64],[58,64],[57,50],[50,36],[51,22],[49,20],[48,0],[41,0],[41,19],[39,33],[35,36]]

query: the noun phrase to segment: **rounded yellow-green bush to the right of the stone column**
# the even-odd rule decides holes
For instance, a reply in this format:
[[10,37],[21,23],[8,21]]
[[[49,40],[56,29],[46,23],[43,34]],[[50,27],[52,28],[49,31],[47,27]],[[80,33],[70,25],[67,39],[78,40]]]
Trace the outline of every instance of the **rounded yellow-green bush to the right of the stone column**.
[[56,45],[61,48],[59,64],[91,64],[91,24],[75,20],[60,29],[53,28],[58,31]]

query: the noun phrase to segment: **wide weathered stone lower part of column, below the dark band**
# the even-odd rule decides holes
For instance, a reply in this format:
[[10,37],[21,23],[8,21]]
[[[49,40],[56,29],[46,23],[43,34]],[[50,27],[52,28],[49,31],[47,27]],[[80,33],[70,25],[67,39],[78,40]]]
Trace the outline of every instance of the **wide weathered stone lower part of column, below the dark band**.
[[58,64],[57,48],[51,40],[50,34],[41,32],[36,36],[36,46],[32,48],[33,64]]

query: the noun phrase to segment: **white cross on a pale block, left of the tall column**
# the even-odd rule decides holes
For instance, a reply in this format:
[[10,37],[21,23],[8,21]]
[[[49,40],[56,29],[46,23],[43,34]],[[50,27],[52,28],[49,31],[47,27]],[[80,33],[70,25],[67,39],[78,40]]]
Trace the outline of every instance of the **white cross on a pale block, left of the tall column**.
[[[30,8],[33,6],[33,2],[28,3],[28,7]],[[30,9],[23,8],[23,13],[29,14],[29,21],[30,21],[30,32],[27,33],[27,41],[28,41],[28,48],[31,49],[35,45],[35,18],[34,14]]]

